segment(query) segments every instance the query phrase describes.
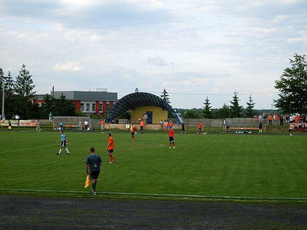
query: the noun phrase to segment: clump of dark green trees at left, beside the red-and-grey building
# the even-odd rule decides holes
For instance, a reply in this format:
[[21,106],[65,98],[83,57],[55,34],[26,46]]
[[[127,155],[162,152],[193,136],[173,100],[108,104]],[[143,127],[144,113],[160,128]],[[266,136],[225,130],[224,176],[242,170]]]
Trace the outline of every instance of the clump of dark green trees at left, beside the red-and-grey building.
[[[0,91],[1,98],[3,89],[5,90],[5,114],[6,118],[11,118],[18,114],[20,119],[47,119],[48,114],[52,111],[53,116],[83,116],[84,113],[76,111],[75,104],[66,100],[61,95],[56,99],[46,94],[43,97],[45,103],[36,103],[35,85],[33,84],[32,75],[26,70],[23,64],[20,68],[19,75],[13,79],[11,73],[4,75],[3,69],[0,68]],[[2,111],[2,103],[0,105]],[[81,113],[81,114],[80,114]]]

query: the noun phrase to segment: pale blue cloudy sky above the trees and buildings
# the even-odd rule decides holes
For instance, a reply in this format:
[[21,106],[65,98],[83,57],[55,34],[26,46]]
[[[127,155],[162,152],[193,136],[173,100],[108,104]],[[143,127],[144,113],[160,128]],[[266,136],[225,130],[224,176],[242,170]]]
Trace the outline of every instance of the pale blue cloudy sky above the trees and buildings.
[[[275,80],[307,54],[306,0],[0,0],[0,67],[37,94],[135,89],[171,105],[271,109]],[[274,108],[274,106],[273,106]]]

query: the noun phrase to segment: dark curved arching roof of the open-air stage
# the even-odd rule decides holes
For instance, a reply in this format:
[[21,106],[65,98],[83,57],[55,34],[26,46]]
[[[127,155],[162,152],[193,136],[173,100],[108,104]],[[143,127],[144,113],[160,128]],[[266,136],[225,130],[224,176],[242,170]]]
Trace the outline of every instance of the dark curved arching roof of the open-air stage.
[[106,116],[105,123],[110,123],[115,118],[119,117],[122,113],[134,109],[140,106],[157,106],[162,109],[166,109],[171,112],[178,120],[178,123],[181,124],[183,120],[178,116],[178,114],[174,111],[174,109],[162,98],[149,94],[149,93],[133,93],[128,94],[118,100],[110,109],[108,115]]

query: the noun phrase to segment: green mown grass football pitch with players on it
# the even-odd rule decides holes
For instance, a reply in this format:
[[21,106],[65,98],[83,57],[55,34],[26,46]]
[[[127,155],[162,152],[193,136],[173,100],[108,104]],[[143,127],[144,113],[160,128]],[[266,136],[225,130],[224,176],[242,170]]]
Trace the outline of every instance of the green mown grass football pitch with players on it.
[[0,193],[89,195],[85,160],[94,147],[102,159],[98,193],[307,201],[307,136],[176,133],[169,149],[166,133],[137,133],[135,142],[128,132],[112,133],[116,162],[108,164],[107,133],[65,133],[70,155],[56,155],[56,131],[0,132]]

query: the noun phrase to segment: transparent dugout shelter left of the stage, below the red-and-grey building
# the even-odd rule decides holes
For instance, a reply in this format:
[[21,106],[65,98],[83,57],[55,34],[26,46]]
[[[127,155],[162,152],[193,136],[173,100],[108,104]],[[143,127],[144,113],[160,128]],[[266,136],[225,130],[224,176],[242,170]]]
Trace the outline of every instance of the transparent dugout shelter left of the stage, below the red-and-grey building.
[[79,129],[79,121],[82,121],[82,127],[84,127],[84,122],[87,120],[89,122],[89,128],[91,129],[91,118],[90,117],[52,117],[53,129],[58,129],[60,122],[63,123],[63,129]]

